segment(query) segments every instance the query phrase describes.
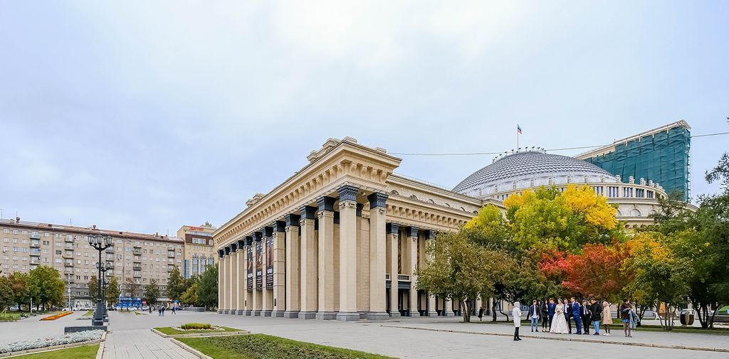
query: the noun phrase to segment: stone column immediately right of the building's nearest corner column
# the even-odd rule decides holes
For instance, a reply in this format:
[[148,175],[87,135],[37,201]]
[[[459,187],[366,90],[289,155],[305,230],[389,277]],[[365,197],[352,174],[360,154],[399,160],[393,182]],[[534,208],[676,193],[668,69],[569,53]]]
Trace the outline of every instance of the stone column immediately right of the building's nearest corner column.
[[368,320],[387,320],[385,283],[385,202],[387,194],[373,193],[370,200],[370,312]]

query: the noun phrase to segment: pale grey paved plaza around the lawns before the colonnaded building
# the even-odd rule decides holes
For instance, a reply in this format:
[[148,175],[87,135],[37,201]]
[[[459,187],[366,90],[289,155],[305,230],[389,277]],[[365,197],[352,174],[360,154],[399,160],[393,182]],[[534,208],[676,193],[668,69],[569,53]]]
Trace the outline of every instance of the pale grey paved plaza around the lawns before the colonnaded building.
[[[63,326],[80,325],[74,313],[59,320],[39,322],[39,317],[16,323],[0,323],[1,342],[58,335]],[[338,321],[296,320],[283,318],[217,315],[212,312],[165,313],[160,317],[110,312],[111,326],[106,337],[104,358],[195,358],[149,331],[159,326],[182,323],[211,323],[241,328],[252,333],[272,334],[317,344],[375,352],[398,358],[729,358],[728,352],[664,349],[606,344],[601,342],[565,342],[549,338],[574,338],[595,341],[625,342],[619,331],[614,336],[569,336],[532,334],[522,327],[521,342],[510,338],[512,327],[504,324],[459,323],[459,318],[402,318],[381,323],[342,323]],[[631,342],[642,344],[685,345],[729,349],[729,336],[636,331]]]

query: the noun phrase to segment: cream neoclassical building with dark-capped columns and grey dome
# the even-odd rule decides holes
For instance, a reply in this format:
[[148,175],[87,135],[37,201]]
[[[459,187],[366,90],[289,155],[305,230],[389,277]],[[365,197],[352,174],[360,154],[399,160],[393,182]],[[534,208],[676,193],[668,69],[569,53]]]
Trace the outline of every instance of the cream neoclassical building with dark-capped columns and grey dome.
[[508,194],[545,184],[587,183],[635,226],[665,196],[657,184],[625,184],[579,159],[528,153],[496,159],[489,166],[500,163],[499,173],[486,166],[451,190],[394,174],[401,159],[384,149],[330,139],[214,232],[218,312],[343,321],[454,315],[458,304],[416,289],[415,272],[437,232],[458,229],[483,205],[502,207]]

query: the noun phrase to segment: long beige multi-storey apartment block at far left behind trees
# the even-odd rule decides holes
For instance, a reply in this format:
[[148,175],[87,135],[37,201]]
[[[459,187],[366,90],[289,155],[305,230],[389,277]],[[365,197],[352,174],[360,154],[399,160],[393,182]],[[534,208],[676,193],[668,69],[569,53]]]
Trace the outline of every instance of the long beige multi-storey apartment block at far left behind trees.
[[2,275],[27,273],[39,265],[53,267],[66,281],[67,305],[88,307],[95,293],[88,293],[87,283],[98,274],[98,250],[88,244],[90,234],[112,237],[113,246],[101,253],[101,261],[114,268],[106,272],[107,280],[117,277],[122,296],[139,298],[144,286],[156,280],[160,301],[166,300],[168,273],[182,264],[184,242],[160,234],[1,219]]

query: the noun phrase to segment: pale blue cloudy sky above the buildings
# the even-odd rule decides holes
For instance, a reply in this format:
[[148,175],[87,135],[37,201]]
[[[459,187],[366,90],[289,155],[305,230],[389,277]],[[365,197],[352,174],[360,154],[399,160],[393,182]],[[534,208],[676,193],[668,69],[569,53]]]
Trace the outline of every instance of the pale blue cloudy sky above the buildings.
[[[3,1],[3,218],[220,226],[327,138],[403,152],[729,131],[728,1]],[[694,138],[693,195],[729,149]],[[580,151],[557,152],[575,155]],[[451,188],[494,156],[399,156]]]

